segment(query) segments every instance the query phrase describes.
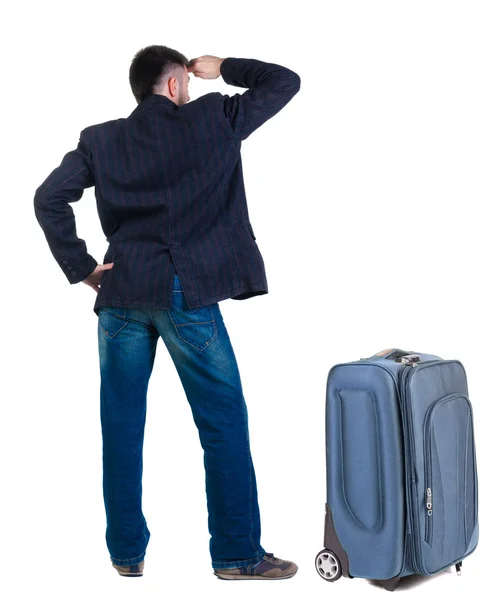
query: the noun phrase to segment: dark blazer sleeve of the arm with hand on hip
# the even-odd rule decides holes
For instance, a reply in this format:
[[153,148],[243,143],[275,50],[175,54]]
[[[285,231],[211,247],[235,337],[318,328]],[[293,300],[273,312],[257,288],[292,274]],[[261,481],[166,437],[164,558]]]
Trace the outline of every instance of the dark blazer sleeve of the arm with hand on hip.
[[89,152],[80,134],[78,146],[63,157],[34,194],[34,213],[52,255],[70,283],[86,279],[97,266],[77,236],[70,202],[80,200],[86,188],[95,185]]

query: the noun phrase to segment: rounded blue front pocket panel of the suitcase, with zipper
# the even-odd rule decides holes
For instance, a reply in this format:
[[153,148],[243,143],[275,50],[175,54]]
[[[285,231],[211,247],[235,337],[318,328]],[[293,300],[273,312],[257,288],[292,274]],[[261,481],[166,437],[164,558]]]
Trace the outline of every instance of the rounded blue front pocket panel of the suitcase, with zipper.
[[440,568],[462,556],[476,522],[472,407],[467,396],[434,402],[424,422],[424,541]]

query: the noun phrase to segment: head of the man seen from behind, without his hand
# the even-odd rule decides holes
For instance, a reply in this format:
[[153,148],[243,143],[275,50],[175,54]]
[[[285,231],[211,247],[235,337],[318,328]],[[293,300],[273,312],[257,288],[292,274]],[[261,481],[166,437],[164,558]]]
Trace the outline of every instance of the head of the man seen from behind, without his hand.
[[167,46],[147,46],[134,56],[129,83],[139,104],[151,94],[161,94],[178,106],[190,100],[188,95],[188,59]]

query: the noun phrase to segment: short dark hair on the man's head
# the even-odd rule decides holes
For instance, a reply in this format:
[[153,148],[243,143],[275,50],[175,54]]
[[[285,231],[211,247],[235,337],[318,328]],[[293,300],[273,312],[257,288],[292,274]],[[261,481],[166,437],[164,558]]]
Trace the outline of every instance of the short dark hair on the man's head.
[[175,66],[186,66],[188,59],[167,46],[146,46],[132,59],[129,83],[137,103],[154,94],[154,87]]

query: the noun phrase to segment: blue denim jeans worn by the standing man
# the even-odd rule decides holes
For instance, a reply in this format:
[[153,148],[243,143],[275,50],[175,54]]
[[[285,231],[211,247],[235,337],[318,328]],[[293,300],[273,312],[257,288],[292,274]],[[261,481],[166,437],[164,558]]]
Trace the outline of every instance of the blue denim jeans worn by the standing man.
[[204,451],[212,567],[255,563],[265,550],[260,545],[248,412],[236,357],[218,303],[190,310],[177,275],[168,310],[99,310],[103,496],[110,558],[117,565],[137,564],[150,538],[141,507],[142,453],[146,393],[160,336],[182,382]]

